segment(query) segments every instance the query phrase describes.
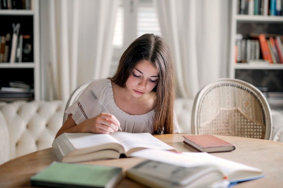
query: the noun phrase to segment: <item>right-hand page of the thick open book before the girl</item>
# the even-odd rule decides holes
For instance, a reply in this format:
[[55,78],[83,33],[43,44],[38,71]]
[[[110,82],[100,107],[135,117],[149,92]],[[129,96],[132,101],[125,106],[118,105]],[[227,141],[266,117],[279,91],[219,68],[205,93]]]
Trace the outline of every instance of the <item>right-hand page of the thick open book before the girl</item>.
[[150,133],[129,133],[113,132],[110,135],[123,145],[125,152],[134,148],[151,148],[156,150],[174,150],[174,147],[167,145],[161,140],[155,138]]

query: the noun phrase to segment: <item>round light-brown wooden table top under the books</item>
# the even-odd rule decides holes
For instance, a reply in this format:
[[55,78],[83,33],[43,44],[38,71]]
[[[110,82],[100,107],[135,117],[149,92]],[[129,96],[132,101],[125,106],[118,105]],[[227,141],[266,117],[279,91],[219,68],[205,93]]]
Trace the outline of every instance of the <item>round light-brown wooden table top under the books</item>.
[[[195,149],[183,143],[182,134],[156,135],[155,137],[175,147],[178,152],[196,152]],[[242,182],[236,187],[283,187],[282,142],[231,136],[217,137],[233,143],[236,146],[236,150],[232,152],[212,153],[212,155],[250,165],[264,171],[264,178]],[[48,148],[6,162],[0,165],[0,187],[31,187],[29,177],[56,160],[57,157],[53,149]],[[126,169],[143,160],[142,158],[133,157],[84,163],[123,167],[123,172],[125,173]],[[117,187],[144,186],[124,177]]]

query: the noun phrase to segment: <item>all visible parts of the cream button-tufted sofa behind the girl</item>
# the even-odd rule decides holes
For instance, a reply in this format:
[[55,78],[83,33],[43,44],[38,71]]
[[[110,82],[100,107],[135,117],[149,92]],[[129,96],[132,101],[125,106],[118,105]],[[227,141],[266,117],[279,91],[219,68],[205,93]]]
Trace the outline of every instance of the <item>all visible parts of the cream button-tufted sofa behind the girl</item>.
[[[175,100],[180,132],[190,134],[193,100]],[[51,147],[62,126],[63,101],[0,103],[0,164]],[[283,142],[283,113],[272,110],[272,140]]]

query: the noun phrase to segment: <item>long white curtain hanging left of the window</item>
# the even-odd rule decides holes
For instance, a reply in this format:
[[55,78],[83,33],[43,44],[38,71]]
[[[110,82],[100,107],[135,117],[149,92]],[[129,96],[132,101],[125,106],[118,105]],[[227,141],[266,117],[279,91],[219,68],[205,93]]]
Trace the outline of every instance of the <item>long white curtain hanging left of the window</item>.
[[109,75],[118,3],[41,1],[43,99],[66,101],[78,85]]

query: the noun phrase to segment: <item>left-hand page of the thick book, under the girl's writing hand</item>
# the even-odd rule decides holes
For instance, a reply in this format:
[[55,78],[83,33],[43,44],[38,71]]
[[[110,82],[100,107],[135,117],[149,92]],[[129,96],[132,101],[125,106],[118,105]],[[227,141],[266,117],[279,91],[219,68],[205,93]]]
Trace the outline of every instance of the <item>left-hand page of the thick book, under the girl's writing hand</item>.
[[82,149],[86,147],[94,147],[107,143],[119,143],[108,134],[95,133],[64,133],[66,138],[75,147],[75,149]]

